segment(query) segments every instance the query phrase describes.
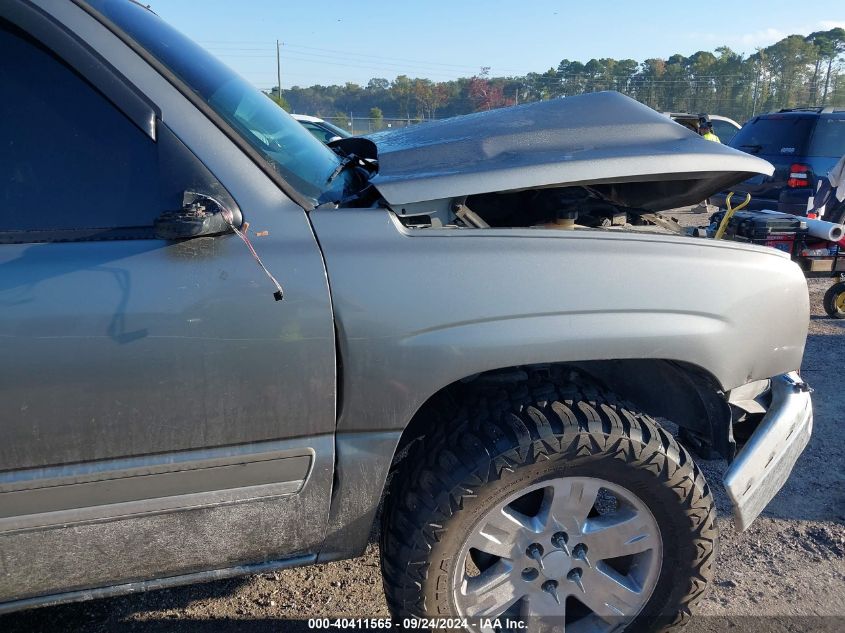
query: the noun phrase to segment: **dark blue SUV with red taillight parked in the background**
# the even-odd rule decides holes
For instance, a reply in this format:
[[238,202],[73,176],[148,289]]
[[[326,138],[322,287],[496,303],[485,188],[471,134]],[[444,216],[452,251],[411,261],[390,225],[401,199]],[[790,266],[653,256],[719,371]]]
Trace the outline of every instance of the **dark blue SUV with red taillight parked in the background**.
[[[806,215],[816,184],[845,155],[845,108],[792,108],[748,121],[729,145],[775,166],[732,188],[751,194],[748,209]],[[728,192],[710,198],[724,207]],[[740,196],[735,196],[735,199]]]

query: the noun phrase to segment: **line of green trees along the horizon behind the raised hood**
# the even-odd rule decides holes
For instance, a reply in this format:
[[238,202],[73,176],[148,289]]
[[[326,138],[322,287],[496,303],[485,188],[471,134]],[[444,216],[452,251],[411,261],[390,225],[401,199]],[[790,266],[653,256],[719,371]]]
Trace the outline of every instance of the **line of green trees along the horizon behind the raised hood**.
[[435,82],[399,75],[366,86],[294,86],[271,96],[293,112],[323,117],[442,118],[518,103],[618,90],[656,110],[708,112],[740,122],[780,108],[845,107],[845,29],[790,35],[744,56],[727,46],[668,59],[562,60],[557,68],[524,76]]

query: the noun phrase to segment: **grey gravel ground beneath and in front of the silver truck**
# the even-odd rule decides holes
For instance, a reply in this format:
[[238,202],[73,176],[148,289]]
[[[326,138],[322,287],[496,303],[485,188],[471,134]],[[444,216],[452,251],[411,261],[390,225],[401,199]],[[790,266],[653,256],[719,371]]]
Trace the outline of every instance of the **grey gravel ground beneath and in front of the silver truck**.
[[[845,321],[828,319],[821,307],[830,283],[810,282],[802,374],[816,390],[812,440],[745,533],[734,531],[719,486],[724,466],[701,462],[716,491],[721,552],[716,580],[686,632],[845,630]],[[0,617],[0,631],[297,631],[311,617],[387,615],[371,542],[351,561],[15,613]]]

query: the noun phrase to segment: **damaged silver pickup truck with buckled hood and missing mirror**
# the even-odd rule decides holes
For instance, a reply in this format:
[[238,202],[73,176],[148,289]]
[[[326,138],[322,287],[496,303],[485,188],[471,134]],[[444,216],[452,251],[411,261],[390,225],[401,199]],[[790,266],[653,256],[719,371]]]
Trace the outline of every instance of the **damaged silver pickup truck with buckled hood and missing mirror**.
[[671,628],[689,451],[745,529],[808,441],[801,272],[656,231],[764,161],[616,93],[330,148],[128,0],[5,0],[0,50],[2,612],[353,557],[382,507],[397,618]]

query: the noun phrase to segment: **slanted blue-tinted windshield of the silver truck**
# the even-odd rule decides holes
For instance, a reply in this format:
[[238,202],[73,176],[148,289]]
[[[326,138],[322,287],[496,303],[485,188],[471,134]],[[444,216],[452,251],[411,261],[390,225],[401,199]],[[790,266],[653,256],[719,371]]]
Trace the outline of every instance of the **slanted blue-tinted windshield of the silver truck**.
[[88,3],[184,81],[300,194],[315,205],[343,197],[347,178],[330,178],[340,158],[267,95],[144,7]]

